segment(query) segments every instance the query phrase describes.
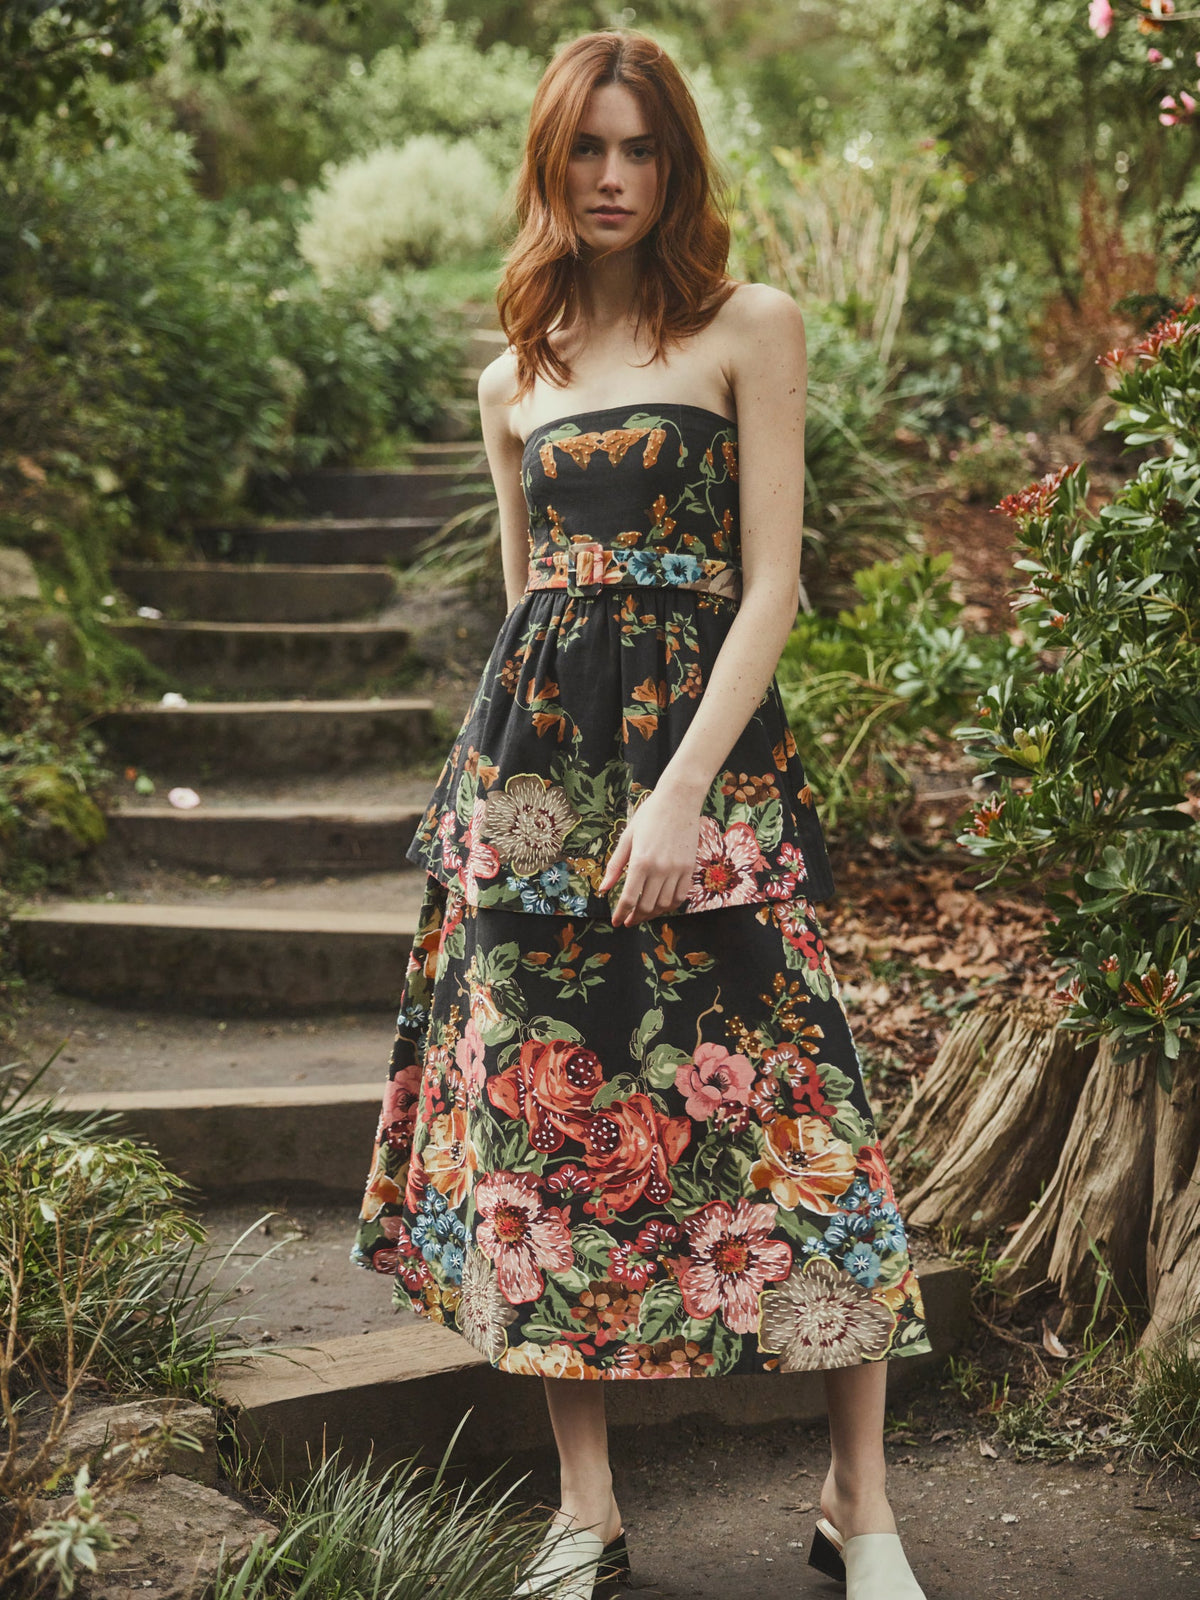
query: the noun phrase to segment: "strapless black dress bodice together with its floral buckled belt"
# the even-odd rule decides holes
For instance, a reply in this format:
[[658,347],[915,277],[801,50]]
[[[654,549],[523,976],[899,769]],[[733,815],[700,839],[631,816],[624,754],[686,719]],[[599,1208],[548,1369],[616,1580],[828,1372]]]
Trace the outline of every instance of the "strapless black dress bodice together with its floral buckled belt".
[[741,594],[738,424],[694,405],[603,406],[534,427],[522,483],[530,589]]

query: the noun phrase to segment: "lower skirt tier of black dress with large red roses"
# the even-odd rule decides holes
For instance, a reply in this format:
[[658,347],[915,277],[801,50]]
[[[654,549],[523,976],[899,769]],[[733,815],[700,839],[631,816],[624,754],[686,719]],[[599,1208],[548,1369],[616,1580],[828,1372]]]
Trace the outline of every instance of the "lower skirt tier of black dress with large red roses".
[[427,878],[354,1254],[514,1373],[931,1347],[803,899],[614,928]]

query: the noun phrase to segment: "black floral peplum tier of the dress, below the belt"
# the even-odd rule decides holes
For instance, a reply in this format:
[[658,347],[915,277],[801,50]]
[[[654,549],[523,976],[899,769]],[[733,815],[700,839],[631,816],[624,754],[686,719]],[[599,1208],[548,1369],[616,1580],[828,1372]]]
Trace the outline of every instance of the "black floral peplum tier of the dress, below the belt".
[[[526,589],[406,859],[472,906],[611,920],[621,883],[597,885],[678,749],[736,611],[682,584]],[[832,893],[773,678],[704,800],[691,893],[672,915]]]

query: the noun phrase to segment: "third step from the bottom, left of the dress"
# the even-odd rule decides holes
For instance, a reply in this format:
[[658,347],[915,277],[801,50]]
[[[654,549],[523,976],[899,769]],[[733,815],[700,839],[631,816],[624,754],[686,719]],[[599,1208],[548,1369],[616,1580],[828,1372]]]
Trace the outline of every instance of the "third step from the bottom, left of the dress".
[[61,901],[13,915],[18,958],[62,994],[173,1011],[296,1016],[397,1003],[403,912]]

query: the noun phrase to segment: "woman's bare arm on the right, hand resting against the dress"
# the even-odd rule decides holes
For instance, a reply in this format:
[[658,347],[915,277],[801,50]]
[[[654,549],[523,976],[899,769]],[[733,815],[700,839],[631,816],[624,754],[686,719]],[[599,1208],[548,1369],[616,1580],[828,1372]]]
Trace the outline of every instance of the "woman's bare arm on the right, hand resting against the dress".
[[795,622],[805,499],[805,325],[765,283],[730,301],[738,406],[742,597],[688,731],[613,851],[600,891],[626,872],[613,925],[645,922],[691,891],[704,797],[758,707]]

